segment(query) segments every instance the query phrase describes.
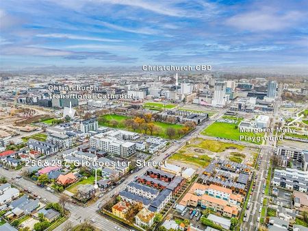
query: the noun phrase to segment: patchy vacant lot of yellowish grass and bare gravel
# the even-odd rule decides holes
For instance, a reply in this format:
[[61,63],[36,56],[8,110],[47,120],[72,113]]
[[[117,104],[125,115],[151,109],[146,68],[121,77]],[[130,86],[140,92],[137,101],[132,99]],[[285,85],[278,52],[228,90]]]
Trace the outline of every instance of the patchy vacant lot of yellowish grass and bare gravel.
[[233,162],[245,162],[252,166],[257,151],[243,145],[192,138],[189,143],[173,154],[168,162],[181,167],[206,167],[211,159],[218,157]]

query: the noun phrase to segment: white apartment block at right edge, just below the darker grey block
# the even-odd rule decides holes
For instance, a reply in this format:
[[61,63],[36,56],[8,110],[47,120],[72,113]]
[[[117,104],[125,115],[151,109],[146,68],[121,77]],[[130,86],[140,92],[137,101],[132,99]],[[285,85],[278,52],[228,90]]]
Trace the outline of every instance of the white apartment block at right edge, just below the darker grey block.
[[275,169],[272,184],[286,189],[308,193],[308,171]]

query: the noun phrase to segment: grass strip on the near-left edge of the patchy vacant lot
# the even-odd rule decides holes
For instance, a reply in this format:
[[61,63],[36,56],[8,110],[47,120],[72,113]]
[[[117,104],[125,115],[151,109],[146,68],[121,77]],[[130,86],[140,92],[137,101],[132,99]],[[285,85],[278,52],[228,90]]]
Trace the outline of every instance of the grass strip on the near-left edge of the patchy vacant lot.
[[179,160],[181,162],[196,165],[199,167],[206,167],[211,162],[211,158],[209,158],[209,156],[207,155],[196,157],[192,154],[180,154],[180,153],[173,154],[169,159]]

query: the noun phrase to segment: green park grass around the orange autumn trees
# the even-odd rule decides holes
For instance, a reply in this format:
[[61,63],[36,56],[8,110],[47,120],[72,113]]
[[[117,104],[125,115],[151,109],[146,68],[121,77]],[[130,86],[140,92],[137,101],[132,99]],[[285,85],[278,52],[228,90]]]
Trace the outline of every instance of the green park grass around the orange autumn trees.
[[[173,124],[173,123],[164,123],[159,121],[151,121],[153,125],[155,125],[156,129],[151,132],[151,130],[143,130],[140,126],[139,127],[129,127],[125,124],[127,119],[133,119],[131,117],[119,115],[119,114],[105,114],[99,119],[99,125],[105,127],[114,127],[123,130],[129,130],[131,132],[138,132],[142,134],[149,134],[153,136],[159,136],[162,138],[170,138],[167,134],[167,128],[172,127],[176,134],[172,138],[181,138],[181,135],[177,133],[178,130],[183,128],[184,126],[181,124]],[[115,123],[116,121],[117,123]]]

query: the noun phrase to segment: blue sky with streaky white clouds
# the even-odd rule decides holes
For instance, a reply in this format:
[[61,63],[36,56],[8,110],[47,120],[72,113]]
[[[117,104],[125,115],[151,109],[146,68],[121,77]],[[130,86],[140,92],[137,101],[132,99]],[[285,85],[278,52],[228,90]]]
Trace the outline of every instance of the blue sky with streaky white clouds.
[[308,1],[5,0],[0,69],[308,66]]

